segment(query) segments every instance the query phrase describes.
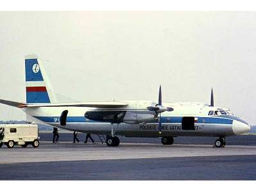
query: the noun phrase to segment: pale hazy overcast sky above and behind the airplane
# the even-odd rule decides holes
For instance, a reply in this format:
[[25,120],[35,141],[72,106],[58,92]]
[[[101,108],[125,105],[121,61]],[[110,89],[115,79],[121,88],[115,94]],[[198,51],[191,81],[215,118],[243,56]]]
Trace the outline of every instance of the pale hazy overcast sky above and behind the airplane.
[[[210,102],[256,125],[256,12],[0,12],[0,99],[25,102],[24,56],[60,102]],[[0,104],[0,120],[25,120]]]

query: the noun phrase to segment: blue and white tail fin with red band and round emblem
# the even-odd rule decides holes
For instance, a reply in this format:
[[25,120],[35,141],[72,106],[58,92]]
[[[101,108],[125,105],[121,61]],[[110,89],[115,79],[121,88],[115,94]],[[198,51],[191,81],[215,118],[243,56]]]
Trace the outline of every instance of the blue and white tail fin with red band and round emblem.
[[45,74],[44,67],[36,55],[25,56],[26,102],[55,103],[51,84]]

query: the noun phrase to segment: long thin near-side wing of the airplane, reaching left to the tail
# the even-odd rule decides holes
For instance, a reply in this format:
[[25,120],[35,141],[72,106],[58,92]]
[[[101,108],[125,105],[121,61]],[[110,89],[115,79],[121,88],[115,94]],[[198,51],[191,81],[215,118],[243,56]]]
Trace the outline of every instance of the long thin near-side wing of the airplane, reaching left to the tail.
[[99,102],[66,102],[66,103],[52,103],[52,104],[29,104],[28,108],[39,107],[88,107],[88,108],[121,108],[125,107],[125,102],[118,101],[99,101]]

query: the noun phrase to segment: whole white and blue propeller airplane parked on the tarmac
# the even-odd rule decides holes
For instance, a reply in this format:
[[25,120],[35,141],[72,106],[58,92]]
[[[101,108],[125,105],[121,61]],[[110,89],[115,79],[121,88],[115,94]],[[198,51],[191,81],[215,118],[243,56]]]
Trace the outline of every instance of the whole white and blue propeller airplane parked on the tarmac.
[[26,103],[0,99],[1,104],[22,109],[30,118],[70,131],[106,136],[109,147],[118,136],[161,138],[172,145],[177,136],[218,137],[214,145],[225,147],[225,138],[250,131],[250,125],[229,109],[200,102],[147,100],[58,102],[38,56],[25,56]]

